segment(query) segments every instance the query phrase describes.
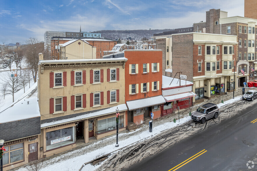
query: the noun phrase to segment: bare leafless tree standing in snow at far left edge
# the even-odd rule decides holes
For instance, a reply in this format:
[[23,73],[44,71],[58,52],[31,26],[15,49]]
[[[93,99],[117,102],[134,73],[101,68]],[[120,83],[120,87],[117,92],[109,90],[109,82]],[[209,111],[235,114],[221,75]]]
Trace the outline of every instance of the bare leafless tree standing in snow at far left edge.
[[5,74],[5,76],[1,79],[2,84],[6,84],[7,93],[13,96],[14,102],[14,93],[18,92],[22,87],[17,83],[15,78],[15,72],[10,72]]

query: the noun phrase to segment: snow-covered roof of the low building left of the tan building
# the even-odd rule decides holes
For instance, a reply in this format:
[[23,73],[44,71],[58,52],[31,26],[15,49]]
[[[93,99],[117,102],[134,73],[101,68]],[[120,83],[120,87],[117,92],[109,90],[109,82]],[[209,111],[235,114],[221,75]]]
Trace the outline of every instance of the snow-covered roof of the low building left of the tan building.
[[[23,120],[32,117],[39,117],[39,106],[37,91],[37,82],[31,86],[19,99],[14,101],[8,108],[0,113],[0,123]],[[29,101],[29,104],[27,104]]]

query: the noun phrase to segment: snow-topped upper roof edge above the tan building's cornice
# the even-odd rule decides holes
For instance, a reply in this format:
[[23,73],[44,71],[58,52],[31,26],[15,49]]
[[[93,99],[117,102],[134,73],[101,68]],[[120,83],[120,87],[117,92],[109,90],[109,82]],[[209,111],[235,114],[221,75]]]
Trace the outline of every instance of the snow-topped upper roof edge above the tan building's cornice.
[[127,58],[111,58],[111,59],[67,59],[67,60],[40,60],[38,65],[42,63],[85,63],[85,62],[106,62],[106,61],[127,61]]

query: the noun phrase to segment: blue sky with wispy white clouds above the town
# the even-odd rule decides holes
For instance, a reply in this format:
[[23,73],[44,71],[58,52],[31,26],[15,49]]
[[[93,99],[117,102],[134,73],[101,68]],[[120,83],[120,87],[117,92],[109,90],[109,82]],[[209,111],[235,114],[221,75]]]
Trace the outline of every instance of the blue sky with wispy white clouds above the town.
[[210,9],[244,17],[243,0],[1,0],[0,44],[44,40],[45,31],[176,29]]

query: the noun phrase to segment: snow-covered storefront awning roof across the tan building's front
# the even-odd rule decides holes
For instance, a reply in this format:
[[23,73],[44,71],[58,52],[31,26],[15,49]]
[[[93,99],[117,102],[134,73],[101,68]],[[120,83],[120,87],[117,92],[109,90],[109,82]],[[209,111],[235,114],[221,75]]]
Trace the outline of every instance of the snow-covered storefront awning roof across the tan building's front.
[[56,118],[52,118],[53,119],[52,122],[41,124],[41,128],[45,128],[45,127],[49,127],[49,126],[53,126],[53,125],[57,125],[57,124],[63,124],[63,123],[66,123],[66,122],[77,121],[77,120],[81,120],[81,119],[87,119],[87,118],[91,118],[91,117],[97,117],[97,116],[101,116],[101,115],[108,115],[108,114],[111,114],[111,113],[115,113],[117,107],[118,107],[119,111],[128,110],[126,104],[120,104],[118,106],[113,106],[113,107],[110,107],[108,109],[103,109],[101,111],[87,113],[87,114],[84,114],[84,115],[79,115],[79,116],[68,118],[68,119],[55,120]]

